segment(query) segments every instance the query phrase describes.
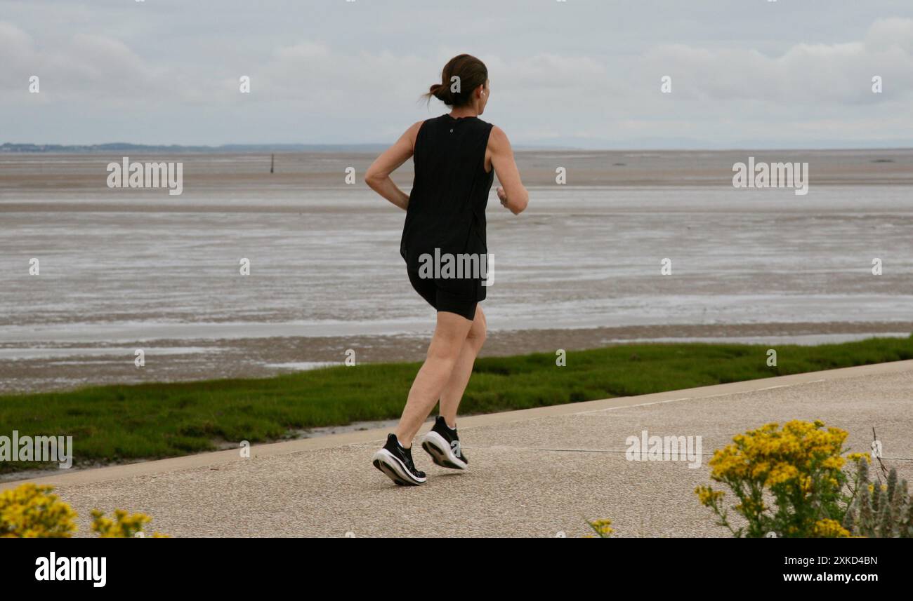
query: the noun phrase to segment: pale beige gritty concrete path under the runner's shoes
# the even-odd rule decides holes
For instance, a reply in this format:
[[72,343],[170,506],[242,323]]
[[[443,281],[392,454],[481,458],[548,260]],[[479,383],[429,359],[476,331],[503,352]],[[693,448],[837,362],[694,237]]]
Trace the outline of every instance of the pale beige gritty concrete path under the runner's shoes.
[[[719,536],[693,493],[709,482],[713,450],[792,419],[848,430],[855,451],[869,449],[875,427],[886,463],[913,482],[913,361],[462,418],[470,471],[438,468],[416,445],[428,474],[418,488],[372,467],[386,430],[261,445],[250,459],[219,451],[31,482],[58,485],[83,534],[89,509],[117,507],[151,514],[174,536],[576,537],[588,518],[611,518],[618,536]],[[642,430],[702,437],[703,461],[626,461],[625,440]]]

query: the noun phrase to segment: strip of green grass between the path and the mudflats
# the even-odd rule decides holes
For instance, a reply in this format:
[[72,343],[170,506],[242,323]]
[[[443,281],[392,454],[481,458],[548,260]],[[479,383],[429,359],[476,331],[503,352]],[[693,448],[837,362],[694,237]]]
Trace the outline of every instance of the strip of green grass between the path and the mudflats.
[[[913,358],[913,337],[817,347],[636,344],[479,359],[464,414],[687,389]],[[130,461],[215,449],[217,441],[265,442],[289,430],[398,418],[418,363],[333,367],[275,378],[102,386],[0,396],[0,435],[73,436],[74,463]],[[51,464],[53,465],[53,464]],[[0,461],[0,472],[37,463]]]

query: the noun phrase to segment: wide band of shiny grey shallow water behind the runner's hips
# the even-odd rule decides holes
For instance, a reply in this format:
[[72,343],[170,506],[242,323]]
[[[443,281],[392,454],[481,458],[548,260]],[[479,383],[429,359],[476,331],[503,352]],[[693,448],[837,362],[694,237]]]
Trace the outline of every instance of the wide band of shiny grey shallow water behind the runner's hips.
[[[491,326],[909,318],[907,188],[740,192],[534,189],[519,219],[489,207]],[[294,213],[5,212],[0,342],[424,330],[403,215],[365,194],[301,192]]]

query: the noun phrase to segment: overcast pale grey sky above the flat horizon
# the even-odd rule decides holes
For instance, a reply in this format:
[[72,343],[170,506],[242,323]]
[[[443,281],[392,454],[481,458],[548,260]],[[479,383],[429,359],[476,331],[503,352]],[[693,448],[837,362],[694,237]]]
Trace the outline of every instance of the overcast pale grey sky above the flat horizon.
[[913,146],[911,0],[0,0],[0,142],[390,142],[462,52],[518,145]]

